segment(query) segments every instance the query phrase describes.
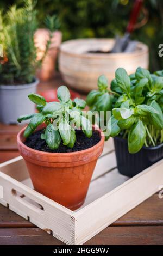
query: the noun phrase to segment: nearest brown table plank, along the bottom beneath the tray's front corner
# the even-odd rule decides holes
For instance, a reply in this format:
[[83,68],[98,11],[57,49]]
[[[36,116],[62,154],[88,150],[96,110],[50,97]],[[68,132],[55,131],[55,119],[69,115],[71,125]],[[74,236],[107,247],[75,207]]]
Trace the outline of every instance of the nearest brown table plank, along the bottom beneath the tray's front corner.
[[[64,245],[39,228],[0,229],[0,245]],[[163,245],[163,227],[108,227],[85,245]]]

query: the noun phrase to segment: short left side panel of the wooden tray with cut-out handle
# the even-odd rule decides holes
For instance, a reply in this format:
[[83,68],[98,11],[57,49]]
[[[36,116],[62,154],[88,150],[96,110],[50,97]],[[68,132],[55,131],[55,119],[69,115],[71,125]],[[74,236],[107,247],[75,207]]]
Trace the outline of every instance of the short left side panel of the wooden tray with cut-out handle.
[[[68,245],[74,243],[72,211],[2,172],[0,172],[0,185],[3,187],[3,198],[0,198],[0,203],[9,205],[9,209],[30,220],[37,227],[52,233],[64,243]],[[29,202],[24,198],[30,199]]]

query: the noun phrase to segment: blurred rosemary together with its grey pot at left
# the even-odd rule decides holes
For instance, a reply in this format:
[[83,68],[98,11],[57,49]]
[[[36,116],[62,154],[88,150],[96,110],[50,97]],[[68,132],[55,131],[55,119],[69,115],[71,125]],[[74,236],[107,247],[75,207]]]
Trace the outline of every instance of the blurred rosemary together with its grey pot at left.
[[35,106],[28,102],[27,95],[36,92],[39,83],[35,77],[36,70],[41,66],[51,45],[55,20],[55,16],[48,16],[46,19],[49,40],[45,53],[37,60],[37,48],[34,44],[34,33],[37,29],[34,2],[24,1],[24,7],[13,6],[7,14],[1,11],[0,45],[3,57],[0,60],[0,121],[3,123],[16,123],[18,115],[28,111],[34,113]]

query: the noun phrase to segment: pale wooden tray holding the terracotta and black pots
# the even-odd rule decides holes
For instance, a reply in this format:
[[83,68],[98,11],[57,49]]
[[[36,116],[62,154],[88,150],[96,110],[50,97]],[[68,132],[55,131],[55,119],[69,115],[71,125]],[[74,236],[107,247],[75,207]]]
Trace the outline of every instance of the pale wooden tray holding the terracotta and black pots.
[[21,156],[0,164],[0,203],[67,245],[82,245],[162,184],[163,160],[131,179],[119,174],[112,139],[105,143],[85,203],[76,211],[34,191]]

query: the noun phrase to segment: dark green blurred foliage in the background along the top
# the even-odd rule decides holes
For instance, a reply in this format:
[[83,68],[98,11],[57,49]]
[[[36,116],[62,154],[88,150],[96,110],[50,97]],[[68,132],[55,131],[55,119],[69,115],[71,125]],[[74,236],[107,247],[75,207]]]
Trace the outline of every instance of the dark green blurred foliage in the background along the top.
[[[10,4],[21,5],[21,0],[0,1],[6,10]],[[58,14],[63,40],[91,37],[114,37],[126,29],[134,0],[38,0],[40,26],[46,14]],[[163,44],[163,1],[146,0],[149,19],[136,30],[132,38],[145,42],[150,50],[151,71],[162,69],[163,57],[158,56],[158,46]]]

